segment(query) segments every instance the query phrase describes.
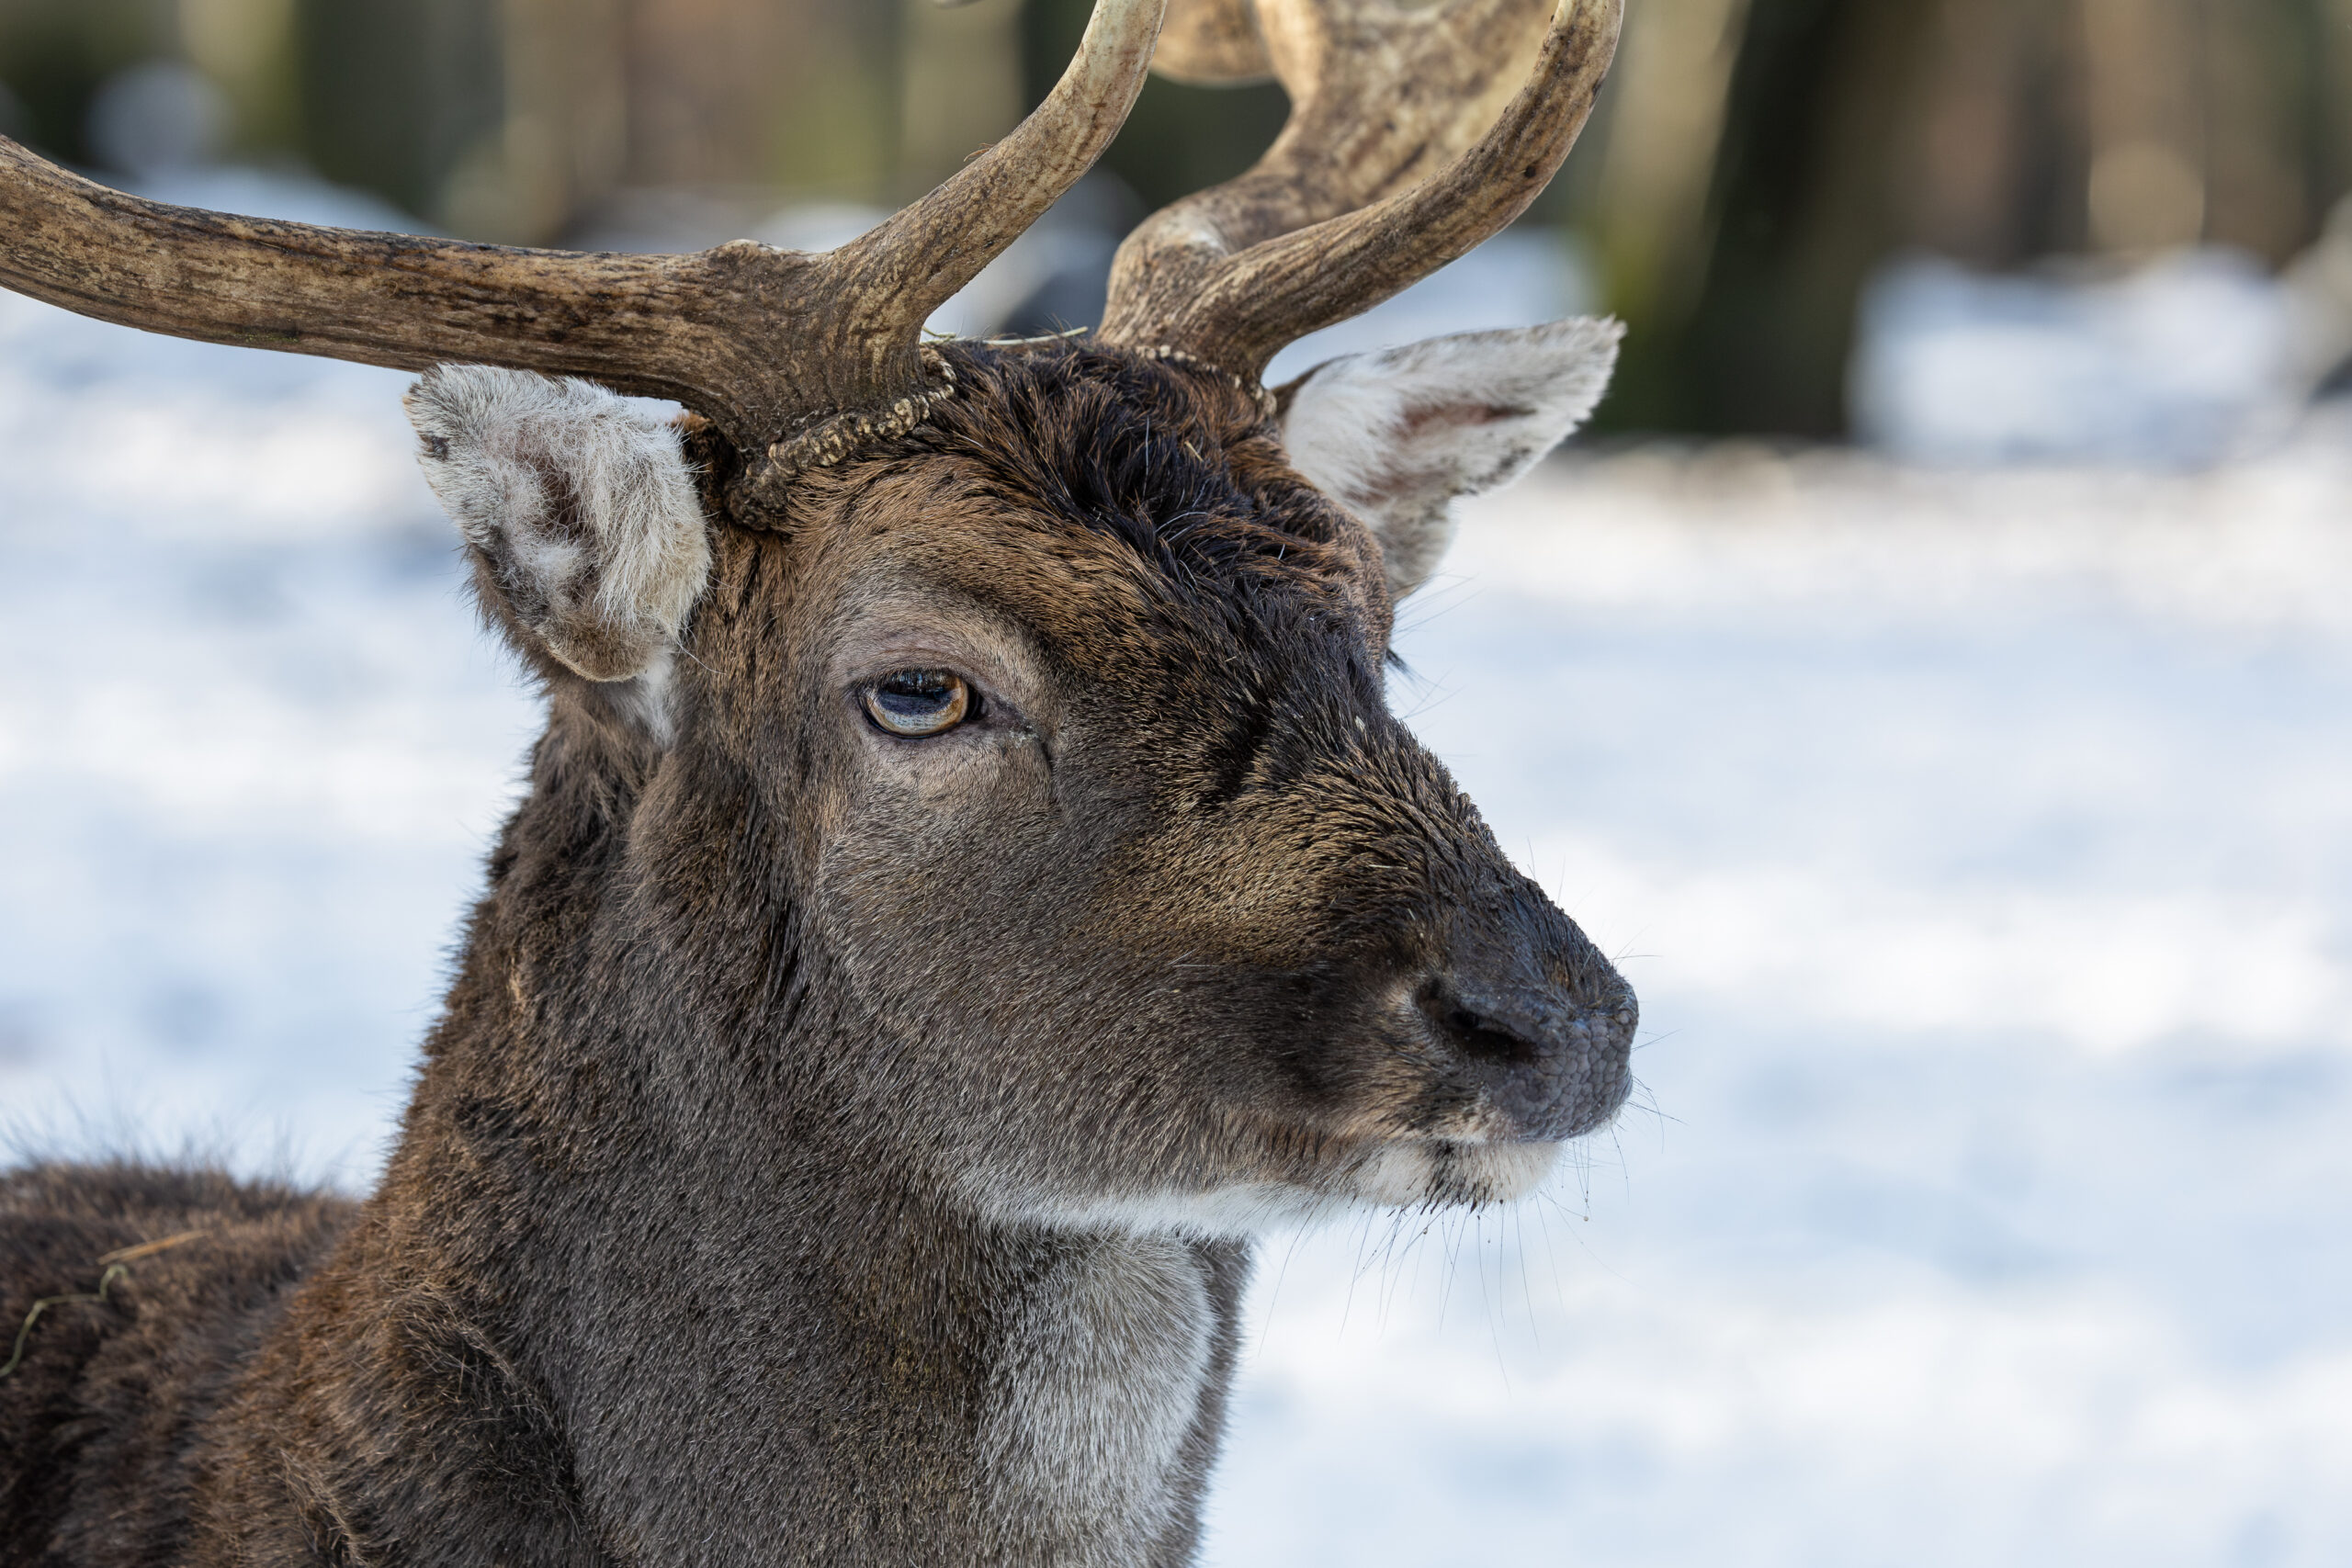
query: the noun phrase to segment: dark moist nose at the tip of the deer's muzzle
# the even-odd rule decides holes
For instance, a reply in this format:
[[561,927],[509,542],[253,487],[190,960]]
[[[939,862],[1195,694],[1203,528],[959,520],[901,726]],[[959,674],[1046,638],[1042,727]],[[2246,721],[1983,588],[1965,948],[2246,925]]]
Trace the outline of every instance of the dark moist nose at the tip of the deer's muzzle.
[[1425,983],[1421,1013],[1484,1103],[1496,1143],[1559,1143],[1616,1117],[1632,1084],[1632,987],[1512,983],[1454,966]]

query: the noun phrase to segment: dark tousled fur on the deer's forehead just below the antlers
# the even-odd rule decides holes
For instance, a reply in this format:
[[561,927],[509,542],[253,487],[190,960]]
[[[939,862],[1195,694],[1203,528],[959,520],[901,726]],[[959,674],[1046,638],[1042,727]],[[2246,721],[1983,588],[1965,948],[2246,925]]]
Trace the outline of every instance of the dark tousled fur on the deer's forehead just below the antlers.
[[844,489],[948,458],[936,482],[964,505],[1023,520],[1047,555],[1112,555],[1160,614],[1244,637],[1343,616],[1385,649],[1378,545],[1291,470],[1251,393],[1082,343],[948,350],[960,393],[913,435],[842,463]]

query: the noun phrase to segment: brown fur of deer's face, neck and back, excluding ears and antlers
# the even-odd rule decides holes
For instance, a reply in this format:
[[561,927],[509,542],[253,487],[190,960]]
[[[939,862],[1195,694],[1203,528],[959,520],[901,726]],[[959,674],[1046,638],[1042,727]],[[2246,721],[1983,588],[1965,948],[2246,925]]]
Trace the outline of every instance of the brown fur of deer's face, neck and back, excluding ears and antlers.
[[[953,353],[781,512],[691,442],[661,726],[485,576],[548,731],[365,1204],[0,1187],[7,1321],[207,1232],[0,1382],[0,1566],[1185,1563],[1258,1211],[1613,1114],[1630,992],[1390,717],[1258,402]],[[981,719],[861,719],[941,663]]]

